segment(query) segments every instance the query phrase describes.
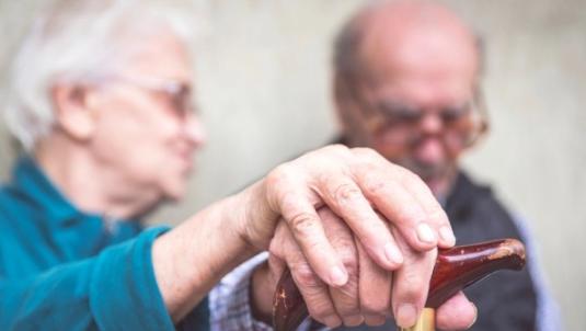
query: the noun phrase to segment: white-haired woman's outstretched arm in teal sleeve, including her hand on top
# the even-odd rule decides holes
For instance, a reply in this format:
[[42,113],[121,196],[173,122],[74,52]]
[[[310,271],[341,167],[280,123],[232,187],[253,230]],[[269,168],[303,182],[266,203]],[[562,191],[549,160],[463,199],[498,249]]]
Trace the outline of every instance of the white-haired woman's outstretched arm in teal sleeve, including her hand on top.
[[[207,307],[202,303],[207,293],[240,262],[268,248],[281,217],[315,275],[330,286],[344,286],[351,275],[315,212],[323,205],[344,219],[377,265],[394,270],[403,256],[375,208],[420,251],[435,248],[439,229],[449,225],[423,183],[379,158],[365,150],[322,149],[166,233],[151,229],[93,259],[31,277],[0,278],[0,327],[173,330],[194,309],[189,317],[206,323]],[[452,243],[449,238],[444,241]],[[5,261],[10,254],[2,251],[1,264],[15,263]],[[5,275],[0,271],[0,276]],[[273,289],[261,284],[254,290]]]

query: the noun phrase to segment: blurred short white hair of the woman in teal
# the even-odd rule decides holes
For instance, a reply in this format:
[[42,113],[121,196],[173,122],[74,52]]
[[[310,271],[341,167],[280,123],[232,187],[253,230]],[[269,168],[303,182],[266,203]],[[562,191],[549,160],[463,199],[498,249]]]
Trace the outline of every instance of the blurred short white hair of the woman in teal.
[[10,68],[4,107],[10,133],[32,150],[55,124],[51,87],[115,73],[136,46],[133,39],[169,31],[188,48],[196,26],[184,19],[169,5],[143,0],[56,1],[34,21]]

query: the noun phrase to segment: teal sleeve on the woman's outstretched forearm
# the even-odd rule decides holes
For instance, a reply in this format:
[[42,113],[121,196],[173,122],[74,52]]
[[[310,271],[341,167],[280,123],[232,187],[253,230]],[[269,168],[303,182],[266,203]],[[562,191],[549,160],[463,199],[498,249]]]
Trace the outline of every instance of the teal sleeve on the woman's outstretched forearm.
[[92,259],[22,279],[0,275],[1,330],[174,330],[143,231]]

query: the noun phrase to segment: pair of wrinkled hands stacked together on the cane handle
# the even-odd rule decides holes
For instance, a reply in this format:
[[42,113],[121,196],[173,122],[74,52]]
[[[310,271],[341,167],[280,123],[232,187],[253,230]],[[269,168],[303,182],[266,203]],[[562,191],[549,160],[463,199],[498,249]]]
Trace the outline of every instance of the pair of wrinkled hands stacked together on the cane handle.
[[[256,190],[266,203],[249,210],[245,231],[271,252],[253,277],[256,311],[269,313],[287,266],[310,315],[329,327],[378,326],[390,316],[415,322],[437,248],[456,241],[418,176],[370,149],[330,146],[279,166]],[[441,329],[466,329],[474,318],[462,294],[437,311]]]

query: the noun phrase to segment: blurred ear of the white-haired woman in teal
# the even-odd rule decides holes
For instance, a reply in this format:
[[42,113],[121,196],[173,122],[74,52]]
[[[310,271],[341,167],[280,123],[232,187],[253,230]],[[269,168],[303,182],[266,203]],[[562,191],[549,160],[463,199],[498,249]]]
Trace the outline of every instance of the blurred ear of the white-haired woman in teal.
[[51,96],[59,128],[72,139],[90,139],[95,130],[95,113],[90,106],[90,87],[59,83],[53,87]]

